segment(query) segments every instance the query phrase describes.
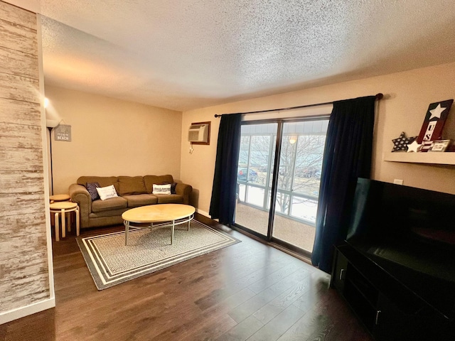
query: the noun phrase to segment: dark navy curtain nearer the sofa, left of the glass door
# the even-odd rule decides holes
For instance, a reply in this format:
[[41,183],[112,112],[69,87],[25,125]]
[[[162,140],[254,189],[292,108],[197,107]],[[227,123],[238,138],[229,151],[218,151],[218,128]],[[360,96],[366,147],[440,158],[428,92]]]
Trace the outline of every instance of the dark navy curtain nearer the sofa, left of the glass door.
[[222,224],[234,223],[241,129],[242,114],[221,117],[209,214]]

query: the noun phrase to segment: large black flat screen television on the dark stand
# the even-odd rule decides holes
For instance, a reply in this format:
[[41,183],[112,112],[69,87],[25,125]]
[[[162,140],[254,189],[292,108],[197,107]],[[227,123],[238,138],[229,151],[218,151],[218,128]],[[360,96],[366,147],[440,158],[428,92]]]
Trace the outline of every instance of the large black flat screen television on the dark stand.
[[455,195],[359,178],[346,242],[455,318]]

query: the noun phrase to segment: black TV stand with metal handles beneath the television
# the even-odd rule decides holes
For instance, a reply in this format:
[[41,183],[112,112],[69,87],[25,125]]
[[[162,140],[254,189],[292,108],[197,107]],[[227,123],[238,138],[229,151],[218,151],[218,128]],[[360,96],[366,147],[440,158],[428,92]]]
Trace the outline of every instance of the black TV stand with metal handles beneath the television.
[[335,249],[331,287],[375,340],[455,340],[454,320],[348,244]]

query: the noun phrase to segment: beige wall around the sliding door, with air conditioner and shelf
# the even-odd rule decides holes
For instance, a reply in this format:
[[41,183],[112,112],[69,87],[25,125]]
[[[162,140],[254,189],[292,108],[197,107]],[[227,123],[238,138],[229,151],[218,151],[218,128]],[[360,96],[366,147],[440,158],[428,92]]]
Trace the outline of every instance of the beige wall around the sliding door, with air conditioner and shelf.
[[[183,112],[181,179],[193,185],[196,192],[193,203],[199,212],[208,212],[220,122],[214,114],[292,107],[382,92],[385,99],[378,102],[373,178],[386,182],[402,179],[404,185],[455,194],[454,166],[382,161],[382,152],[392,149],[391,140],[402,131],[407,136],[419,134],[430,103],[455,97],[454,80],[455,63],[450,63]],[[186,131],[193,121],[212,121],[212,143],[194,146],[194,152],[190,154]],[[452,107],[443,137],[454,139],[454,128],[455,109]]]

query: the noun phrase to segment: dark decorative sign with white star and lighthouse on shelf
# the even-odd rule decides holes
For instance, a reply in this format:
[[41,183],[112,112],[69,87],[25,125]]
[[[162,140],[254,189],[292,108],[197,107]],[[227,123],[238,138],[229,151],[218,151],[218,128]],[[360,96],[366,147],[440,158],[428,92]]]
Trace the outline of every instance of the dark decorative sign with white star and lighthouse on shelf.
[[419,137],[417,137],[417,144],[422,144],[423,141],[441,139],[442,129],[453,102],[454,99],[447,99],[446,101],[429,104],[422,129],[420,129]]

